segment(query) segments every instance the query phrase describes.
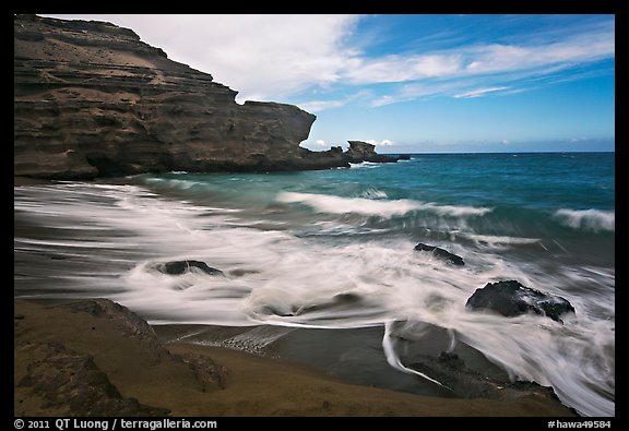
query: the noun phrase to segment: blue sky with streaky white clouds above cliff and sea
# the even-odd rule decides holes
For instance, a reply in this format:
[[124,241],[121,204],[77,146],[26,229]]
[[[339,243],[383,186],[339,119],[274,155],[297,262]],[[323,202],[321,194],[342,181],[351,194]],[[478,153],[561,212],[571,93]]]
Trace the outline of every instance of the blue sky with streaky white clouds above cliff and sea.
[[614,15],[45,15],[133,29],[238,91],[317,115],[310,149],[615,149]]

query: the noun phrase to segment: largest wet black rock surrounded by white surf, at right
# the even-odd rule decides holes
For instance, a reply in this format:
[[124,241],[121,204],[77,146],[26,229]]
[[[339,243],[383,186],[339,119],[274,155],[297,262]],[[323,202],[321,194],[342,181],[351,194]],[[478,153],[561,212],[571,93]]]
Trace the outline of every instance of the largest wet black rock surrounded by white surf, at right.
[[471,310],[492,310],[506,316],[532,311],[561,323],[561,314],[574,312],[567,299],[531,289],[517,280],[488,283],[482,289],[476,289],[465,307]]

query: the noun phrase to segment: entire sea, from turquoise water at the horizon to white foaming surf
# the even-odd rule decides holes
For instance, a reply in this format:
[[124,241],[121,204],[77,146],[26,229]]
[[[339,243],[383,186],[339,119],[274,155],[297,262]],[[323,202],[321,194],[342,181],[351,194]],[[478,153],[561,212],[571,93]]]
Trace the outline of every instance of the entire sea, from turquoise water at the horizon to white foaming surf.
[[[581,415],[615,415],[614,153],[415,154],[323,171],[26,185],[14,188],[14,215],[15,297],[107,297],[154,325],[239,328],[221,343],[259,354],[339,351],[346,373],[381,385],[435,385],[408,367],[404,340],[427,351],[438,331],[439,349],[468,346]],[[224,276],[155,270],[177,260]],[[575,313],[561,323],[465,308],[476,289],[511,279]],[[307,355],[301,338],[277,347],[294,331],[324,334],[314,330],[353,335],[310,336]]]

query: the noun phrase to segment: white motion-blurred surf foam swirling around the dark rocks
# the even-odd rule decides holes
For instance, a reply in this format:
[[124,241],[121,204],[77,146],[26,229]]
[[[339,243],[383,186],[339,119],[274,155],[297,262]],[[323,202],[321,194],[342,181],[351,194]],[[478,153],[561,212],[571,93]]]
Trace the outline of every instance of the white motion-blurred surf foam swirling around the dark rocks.
[[[411,211],[455,217],[491,211],[307,193],[282,193],[278,200],[331,214],[380,217]],[[224,214],[214,214],[202,205],[162,200],[135,187],[63,184],[21,189],[15,192],[15,209],[27,212],[41,226],[110,227],[110,238],[100,236],[93,243],[92,237],[20,241],[43,254],[51,248],[66,249],[88,263],[110,259],[111,254],[100,256],[110,250],[117,250],[119,259],[124,259],[122,253],[128,249],[135,250],[124,272],[106,275],[109,280],[117,277],[116,284],[124,289],[108,297],[151,316],[152,323],[325,328],[385,325],[385,337],[390,338],[388,322],[426,322],[456,334],[514,378],[551,384],[565,403],[585,415],[614,415],[614,402],[601,395],[614,394],[614,364],[608,355],[615,349],[615,309],[609,295],[614,274],[609,271],[559,267],[548,274],[533,263],[480,253],[471,243],[449,249],[475,265],[452,267],[414,252],[416,241],[408,238],[318,241],[292,235],[289,229],[256,228],[258,218],[249,220],[248,226],[234,227]],[[246,223],[244,218],[241,224]],[[476,239],[494,243],[533,241]],[[78,247],[80,240],[84,240],[84,249]],[[204,261],[226,277],[198,273],[174,277],[151,270],[152,263],[181,259]],[[577,314],[561,325],[535,315],[507,319],[465,309],[475,289],[500,279],[518,279],[525,286],[560,295],[573,303]],[[568,294],[580,280],[593,287]],[[91,287],[84,280],[80,285]],[[328,307],[333,298],[347,294],[359,301]],[[272,343],[271,335],[262,335],[254,333],[251,339],[240,337],[235,343]],[[389,338],[383,339],[389,363],[413,372],[399,360],[395,340]]]

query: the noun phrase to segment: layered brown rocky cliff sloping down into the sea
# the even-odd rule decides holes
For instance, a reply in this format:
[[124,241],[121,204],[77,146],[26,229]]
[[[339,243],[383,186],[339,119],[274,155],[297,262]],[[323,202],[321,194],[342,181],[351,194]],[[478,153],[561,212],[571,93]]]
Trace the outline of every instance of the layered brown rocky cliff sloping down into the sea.
[[[363,161],[299,143],[316,117],[237,92],[110,23],[14,17],[14,175],[323,169]],[[253,72],[252,72],[253,73]]]

